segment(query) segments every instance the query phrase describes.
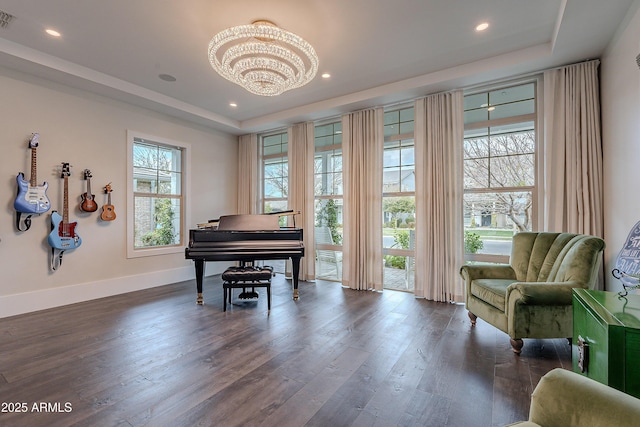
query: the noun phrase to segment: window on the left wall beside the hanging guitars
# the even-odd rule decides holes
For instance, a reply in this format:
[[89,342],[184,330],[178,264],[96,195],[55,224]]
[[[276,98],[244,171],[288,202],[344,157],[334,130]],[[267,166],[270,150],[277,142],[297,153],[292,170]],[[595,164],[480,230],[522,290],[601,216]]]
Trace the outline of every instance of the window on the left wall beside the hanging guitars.
[[184,250],[186,146],[129,132],[127,256]]

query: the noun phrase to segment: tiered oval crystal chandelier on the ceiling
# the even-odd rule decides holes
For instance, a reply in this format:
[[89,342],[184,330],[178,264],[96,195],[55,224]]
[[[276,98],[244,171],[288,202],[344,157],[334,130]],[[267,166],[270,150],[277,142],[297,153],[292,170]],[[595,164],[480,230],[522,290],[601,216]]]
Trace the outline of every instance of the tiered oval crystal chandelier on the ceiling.
[[304,86],[318,71],[313,47],[269,21],[216,34],[209,43],[209,62],[225,79],[263,96]]

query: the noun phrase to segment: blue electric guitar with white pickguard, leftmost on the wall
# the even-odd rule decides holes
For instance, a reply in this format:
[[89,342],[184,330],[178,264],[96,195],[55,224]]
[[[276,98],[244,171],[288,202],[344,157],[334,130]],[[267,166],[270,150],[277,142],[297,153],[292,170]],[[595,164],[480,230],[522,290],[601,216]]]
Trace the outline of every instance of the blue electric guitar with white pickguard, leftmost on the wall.
[[40,135],[34,133],[29,139],[29,148],[31,149],[31,180],[25,180],[22,172],[16,177],[18,195],[13,203],[13,207],[17,212],[41,214],[51,208],[51,202],[46,194],[49,184],[44,182],[42,185],[38,185],[38,178],[36,176],[36,148],[38,147],[39,138]]

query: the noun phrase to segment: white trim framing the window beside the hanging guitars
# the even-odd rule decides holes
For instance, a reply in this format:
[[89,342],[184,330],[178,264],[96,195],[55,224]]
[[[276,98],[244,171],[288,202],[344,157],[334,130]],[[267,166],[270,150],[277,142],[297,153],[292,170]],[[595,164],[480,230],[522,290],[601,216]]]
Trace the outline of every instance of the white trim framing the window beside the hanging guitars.
[[[134,201],[133,201],[133,142],[135,138],[157,142],[158,144],[179,147],[182,149],[182,218],[180,223],[181,245],[163,246],[159,248],[134,248]],[[191,144],[172,141],[166,138],[127,130],[127,258],[184,253],[189,238],[187,224],[191,224],[191,208],[189,190],[191,188]]]

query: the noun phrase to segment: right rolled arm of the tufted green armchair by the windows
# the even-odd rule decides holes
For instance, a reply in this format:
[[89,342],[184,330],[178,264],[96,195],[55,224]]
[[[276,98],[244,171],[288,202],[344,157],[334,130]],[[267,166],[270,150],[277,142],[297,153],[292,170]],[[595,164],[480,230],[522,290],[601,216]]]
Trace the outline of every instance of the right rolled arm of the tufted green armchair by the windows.
[[[517,282],[507,288],[507,307],[526,305],[571,305],[572,289],[585,288],[579,282]],[[512,301],[512,300],[517,300]]]

